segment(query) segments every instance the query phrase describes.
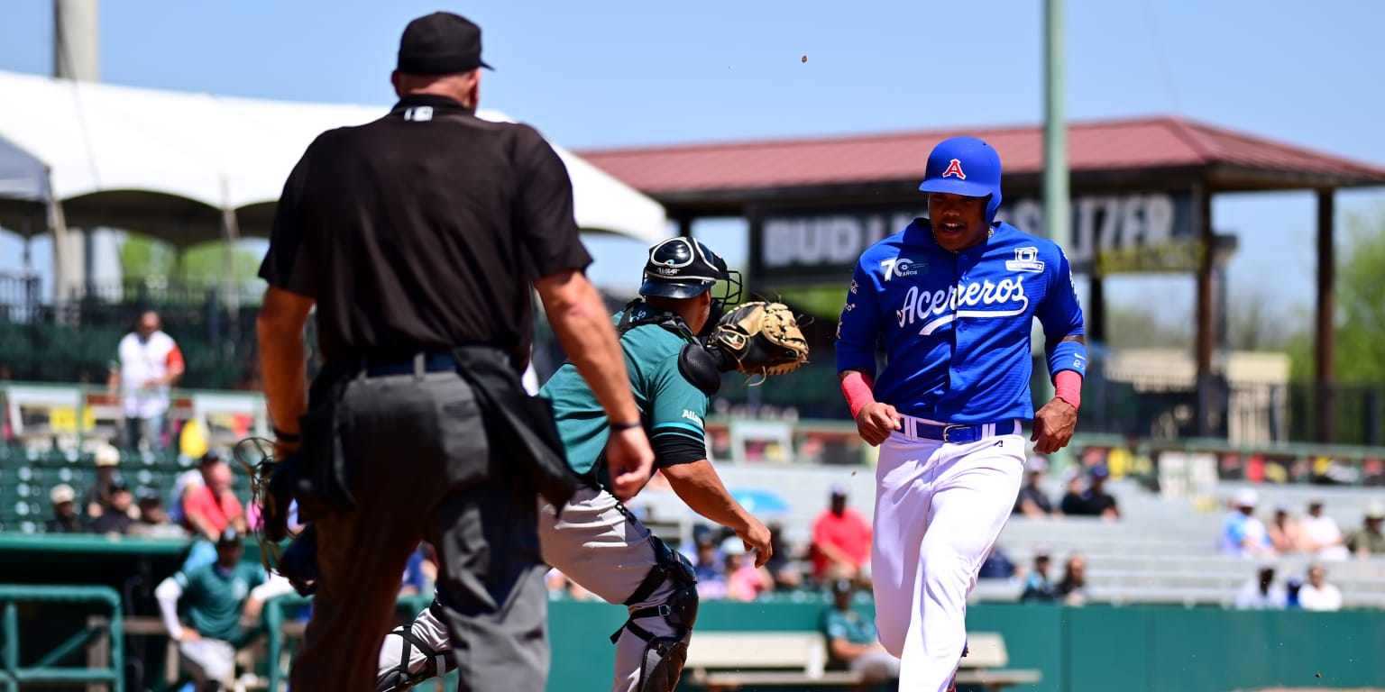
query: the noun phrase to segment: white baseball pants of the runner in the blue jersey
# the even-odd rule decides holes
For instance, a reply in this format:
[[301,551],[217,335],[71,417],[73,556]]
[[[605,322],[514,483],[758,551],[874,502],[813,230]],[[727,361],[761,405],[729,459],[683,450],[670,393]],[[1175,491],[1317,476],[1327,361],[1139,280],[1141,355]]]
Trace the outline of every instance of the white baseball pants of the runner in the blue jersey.
[[[1003,428],[1003,426],[1001,426]],[[900,692],[943,692],[967,638],[967,594],[1024,477],[1011,435],[950,444],[895,432],[879,447],[871,574],[875,626]]]

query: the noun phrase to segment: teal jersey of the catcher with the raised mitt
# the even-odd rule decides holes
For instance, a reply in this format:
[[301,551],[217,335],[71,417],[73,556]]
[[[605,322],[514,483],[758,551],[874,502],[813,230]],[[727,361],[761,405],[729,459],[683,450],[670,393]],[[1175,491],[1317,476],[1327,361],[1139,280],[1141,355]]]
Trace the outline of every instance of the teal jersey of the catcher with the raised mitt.
[[[636,303],[630,310],[634,321],[658,314],[644,303]],[[616,324],[622,314],[614,316]],[[708,396],[679,372],[679,352],[694,342],[692,334],[677,317],[661,324],[641,324],[620,335],[626,372],[650,441],[662,435],[680,435],[705,446],[702,421],[706,417]],[[591,388],[576,367],[565,363],[539,394],[553,401],[568,464],[579,475],[589,475],[601,458],[607,441],[605,411]],[[655,465],[662,466],[662,459],[655,459]],[[605,469],[597,469],[597,477],[605,484]]]

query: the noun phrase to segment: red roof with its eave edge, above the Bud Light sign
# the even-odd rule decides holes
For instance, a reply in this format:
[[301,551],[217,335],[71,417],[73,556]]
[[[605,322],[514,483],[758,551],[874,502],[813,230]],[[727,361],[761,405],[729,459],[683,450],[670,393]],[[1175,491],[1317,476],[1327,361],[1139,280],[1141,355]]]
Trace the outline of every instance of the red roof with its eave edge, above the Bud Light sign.
[[[582,156],[665,205],[727,205],[837,192],[878,199],[917,190],[932,147],[957,134],[1000,151],[1006,184],[1036,187],[1043,127],[970,127],[845,137],[591,149]],[[1385,167],[1199,123],[1140,118],[1073,123],[1073,184],[1197,179],[1209,191],[1385,185]],[[868,187],[863,187],[868,185]],[[670,213],[674,209],[670,206]]]

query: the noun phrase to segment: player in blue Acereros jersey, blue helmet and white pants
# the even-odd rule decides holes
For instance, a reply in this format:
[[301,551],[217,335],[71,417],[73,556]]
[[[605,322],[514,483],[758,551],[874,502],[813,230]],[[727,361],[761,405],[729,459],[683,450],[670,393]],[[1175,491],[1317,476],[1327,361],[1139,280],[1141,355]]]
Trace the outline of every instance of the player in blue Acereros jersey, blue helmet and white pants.
[[[1022,421],[1047,454],[1072,437],[1086,370],[1082,307],[1050,241],[997,223],[1000,156],[974,137],[928,156],[928,219],[866,249],[837,332],[857,432],[879,446],[871,572],[875,621],[899,689],[951,689],[967,594],[1010,516]],[[1037,317],[1057,396],[1033,411]],[[886,363],[877,375],[884,335]]]

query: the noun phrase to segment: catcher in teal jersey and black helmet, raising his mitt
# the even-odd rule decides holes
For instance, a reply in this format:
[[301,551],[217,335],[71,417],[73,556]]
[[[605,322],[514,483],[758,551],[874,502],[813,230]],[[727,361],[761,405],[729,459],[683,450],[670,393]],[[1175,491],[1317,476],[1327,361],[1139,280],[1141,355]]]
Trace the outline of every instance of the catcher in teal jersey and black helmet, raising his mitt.
[[[720,295],[712,296],[713,286]],[[615,314],[641,424],[654,444],[655,464],[674,493],[699,515],[729,526],[755,549],[756,566],[770,558],[770,531],[737,502],[706,458],[702,419],[720,372],[781,374],[798,368],[807,346],[784,304],[747,303],[719,318],[740,299],[740,274],[690,238],[673,238],[650,251],[638,299]],[[708,335],[708,345],[698,335]],[[558,512],[539,501],[543,558],[630,617],[611,641],[616,692],[670,692],[683,671],[697,619],[692,565],[668,548],[608,490],[600,464],[608,424],[601,407],[571,364],[540,392],[553,400],[568,464],[587,484]],[[436,598],[436,597],[435,597]],[[413,686],[446,673],[452,659],[447,628],[432,606],[385,637],[378,689]]]

